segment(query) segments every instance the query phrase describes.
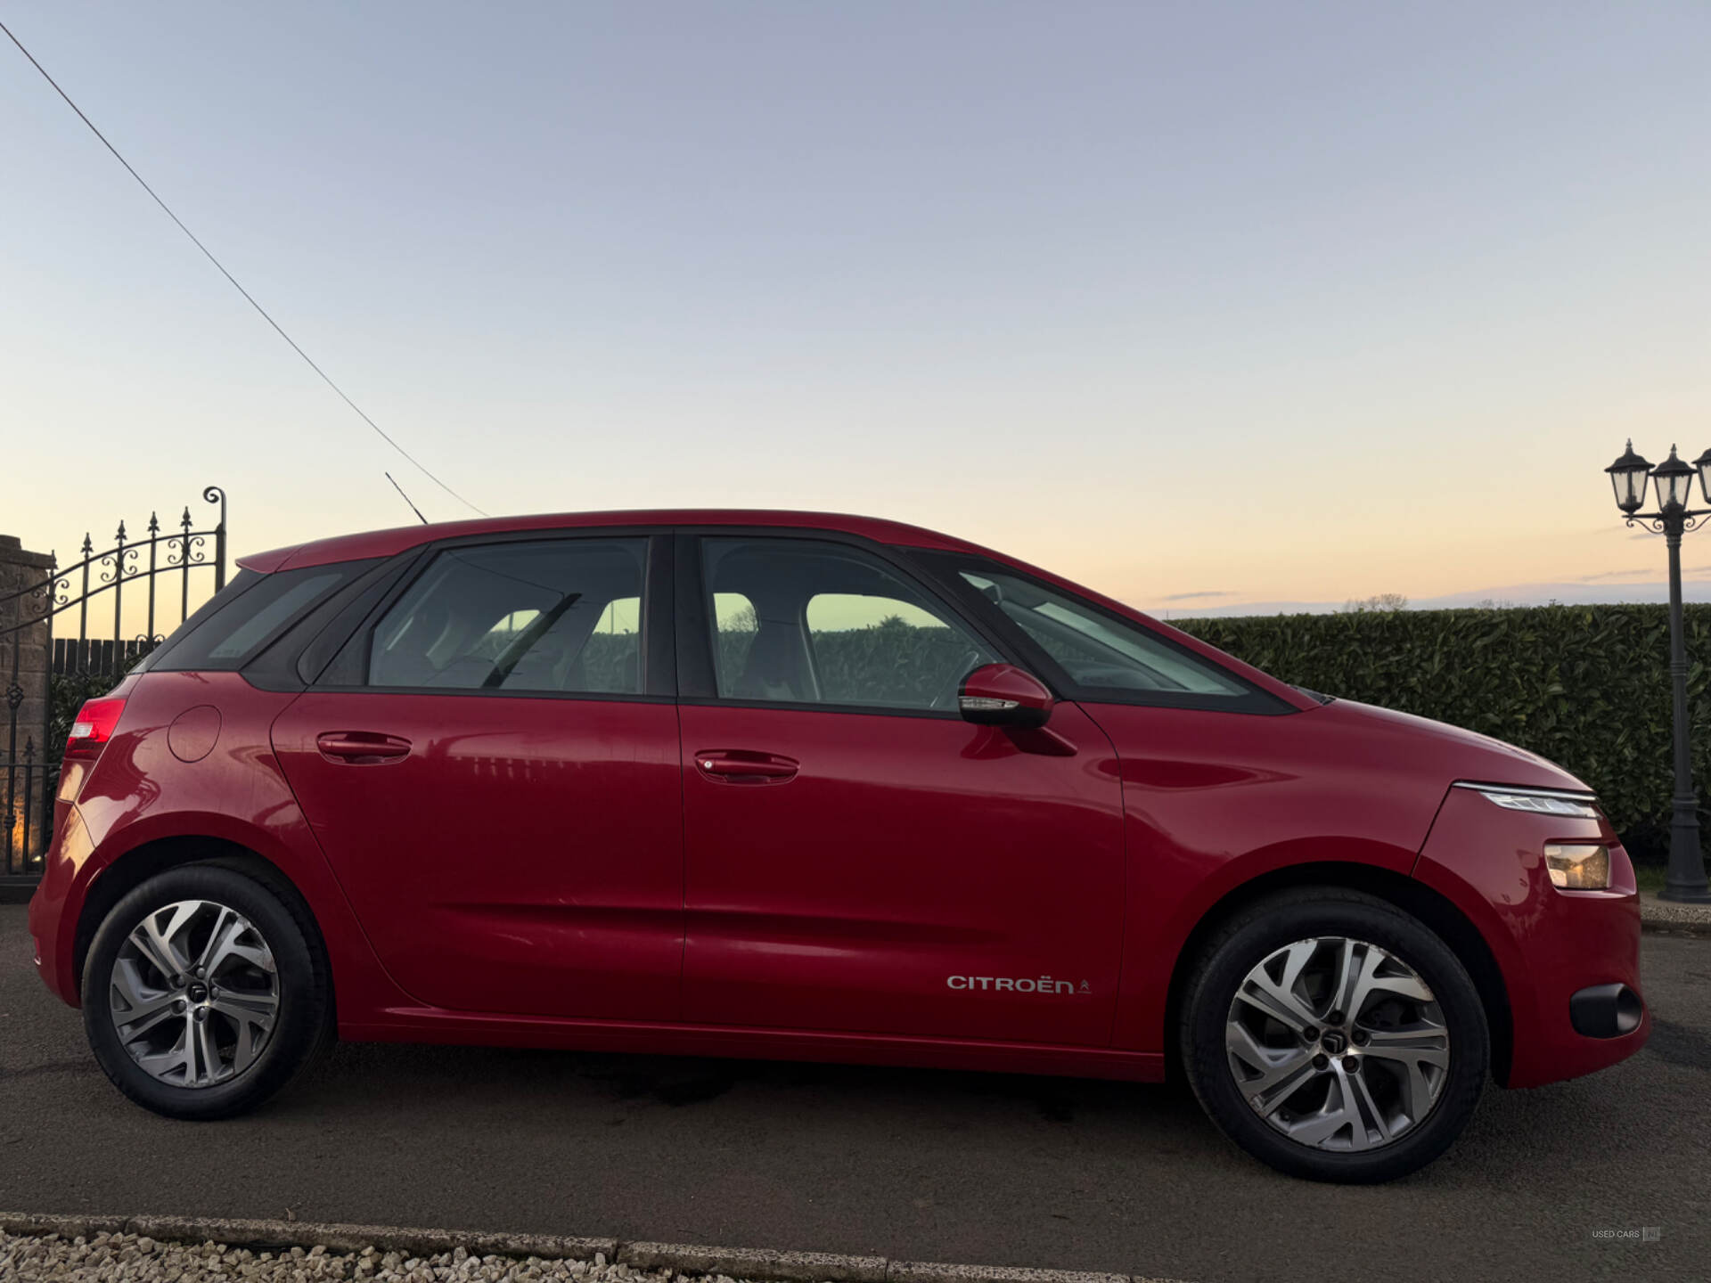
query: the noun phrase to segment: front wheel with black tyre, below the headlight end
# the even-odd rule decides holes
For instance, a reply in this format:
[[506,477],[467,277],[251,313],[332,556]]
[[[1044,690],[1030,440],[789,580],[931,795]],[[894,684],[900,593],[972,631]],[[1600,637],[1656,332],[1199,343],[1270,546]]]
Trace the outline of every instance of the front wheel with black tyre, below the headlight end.
[[[1338,1011],[1350,994],[1359,1009]],[[1485,1008],[1449,946],[1394,905],[1329,886],[1270,896],[1217,931],[1184,992],[1181,1047],[1225,1136],[1280,1172],[1345,1184],[1444,1153],[1490,1062]]]

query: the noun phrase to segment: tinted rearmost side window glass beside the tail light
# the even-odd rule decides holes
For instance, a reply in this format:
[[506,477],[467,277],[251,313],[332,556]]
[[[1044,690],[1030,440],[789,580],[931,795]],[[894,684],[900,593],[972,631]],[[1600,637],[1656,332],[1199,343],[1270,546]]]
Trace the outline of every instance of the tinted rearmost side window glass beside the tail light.
[[370,565],[344,561],[272,575],[241,571],[149,657],[149,667],[166,672],[241,669],[315,602]]

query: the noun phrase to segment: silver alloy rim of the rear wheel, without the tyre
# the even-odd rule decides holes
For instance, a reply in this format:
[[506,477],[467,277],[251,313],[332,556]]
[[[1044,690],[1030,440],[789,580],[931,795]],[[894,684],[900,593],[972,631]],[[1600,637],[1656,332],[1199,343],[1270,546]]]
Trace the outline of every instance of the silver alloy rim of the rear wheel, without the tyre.
[[279,1018],[272,949],[250,919],[212,900],[149,910],[118,949],[110,992],[120,1044],[169,1086],[245,1073]]

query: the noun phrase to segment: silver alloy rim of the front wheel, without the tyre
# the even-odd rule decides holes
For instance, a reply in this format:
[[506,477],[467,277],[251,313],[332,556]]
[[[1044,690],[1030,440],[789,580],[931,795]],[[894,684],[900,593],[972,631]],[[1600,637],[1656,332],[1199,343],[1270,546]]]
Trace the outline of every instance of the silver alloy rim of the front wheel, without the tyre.
[[1254,1114],[1331,1151],[1401,1139],[1449,1078],[1449,1028],[1425,980],[1341,936],[1294,941],[1254,965],[1230,1002],[1225,1052]]

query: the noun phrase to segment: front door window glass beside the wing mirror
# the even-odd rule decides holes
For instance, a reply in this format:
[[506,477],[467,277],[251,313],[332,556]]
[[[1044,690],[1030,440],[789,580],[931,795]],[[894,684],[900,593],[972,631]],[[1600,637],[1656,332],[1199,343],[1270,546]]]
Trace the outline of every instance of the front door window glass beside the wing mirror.
[[992,655],[861,549],[811,539],[707,539],[713,669],[727,700],[956,708]]

